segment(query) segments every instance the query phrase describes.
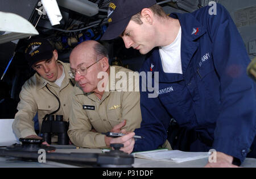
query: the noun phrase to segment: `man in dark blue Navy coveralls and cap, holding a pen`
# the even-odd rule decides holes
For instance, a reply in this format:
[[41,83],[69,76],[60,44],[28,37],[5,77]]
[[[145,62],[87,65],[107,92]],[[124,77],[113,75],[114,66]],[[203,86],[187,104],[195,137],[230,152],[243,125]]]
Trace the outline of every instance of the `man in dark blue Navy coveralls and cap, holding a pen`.
[[[167,16],[155,0],[110,3],[101,40],[121,36],[126,48],[147,53],[141,72],[152,72],[159,83],[155,98],[152,90],[141,91],[141,128],[111,143],[123,143],[128,153],[156,149],[166,139],[183,151],[215,149],[217,162],[208,167],[235,167],[255,153],[250,59],[228,11],[215,5],[215,12],[208,6]],[[134,141],[134,134],[144,139]]]

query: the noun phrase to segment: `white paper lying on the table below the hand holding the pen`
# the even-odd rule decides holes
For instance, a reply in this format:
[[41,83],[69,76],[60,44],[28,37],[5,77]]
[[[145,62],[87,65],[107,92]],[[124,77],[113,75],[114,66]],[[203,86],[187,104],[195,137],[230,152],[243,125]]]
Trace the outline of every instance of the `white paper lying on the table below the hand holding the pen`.
[[158,161],[171,161],[174,163],[183,163],[184,161],[191,161],[209,157],[210,152],[183,152],[183,151],[148,151],[134,153],[135,157],[141,159],[150,159]]

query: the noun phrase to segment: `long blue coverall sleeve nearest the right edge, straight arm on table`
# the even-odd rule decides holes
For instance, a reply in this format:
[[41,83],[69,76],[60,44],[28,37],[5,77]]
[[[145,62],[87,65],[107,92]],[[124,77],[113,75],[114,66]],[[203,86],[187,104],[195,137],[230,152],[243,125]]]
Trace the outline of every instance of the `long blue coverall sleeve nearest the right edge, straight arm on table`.
[[255,92],[246,75],[250,63],[243,40],[228,11],[217,5],[208,15],[213,63],[220,80],[221,111],[216,121],[213,148],[242,162],[255,137]]

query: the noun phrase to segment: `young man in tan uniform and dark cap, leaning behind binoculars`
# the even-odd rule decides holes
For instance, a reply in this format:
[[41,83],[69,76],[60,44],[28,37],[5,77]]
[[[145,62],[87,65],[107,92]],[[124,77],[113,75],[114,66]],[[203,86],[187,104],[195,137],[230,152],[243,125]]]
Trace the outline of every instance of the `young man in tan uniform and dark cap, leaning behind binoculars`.
[[70,66],[57,60],[56,49],[46,39],[30,40],[25,57],[36,73],[22,86],[13,130],[18,138],[40,139],[34,130],[33,118],[36,113],[39,128],[44,116],[53,112],[54,115],[63,115],[64,121],[69,119],[73,91],[68,73]]

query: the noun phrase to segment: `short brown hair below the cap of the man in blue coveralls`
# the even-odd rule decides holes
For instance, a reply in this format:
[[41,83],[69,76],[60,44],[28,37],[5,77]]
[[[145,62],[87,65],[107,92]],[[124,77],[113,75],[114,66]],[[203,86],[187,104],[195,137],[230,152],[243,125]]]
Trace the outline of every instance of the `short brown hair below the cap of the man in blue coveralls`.
[[[153,5],[153,6],[149,7],[149,9],[151,9],[152,12],[154,14],[156,14],[157,16],[159,16],[160,18],[167,18],[167,14],[164,12],[162,6],[160,6],[160,5]],[[133,15],[131,17],[131,20],[133,20],[137,24],[140,24],[140,25],[143,24],[143,22],[141,20],[141,12]]]

